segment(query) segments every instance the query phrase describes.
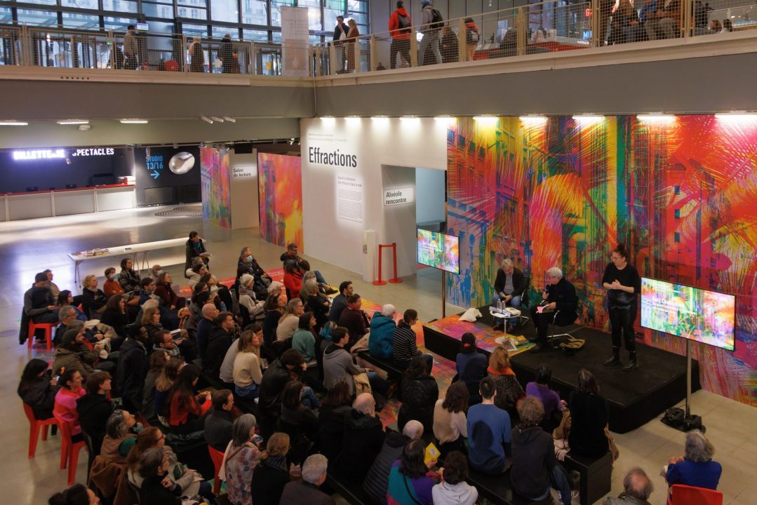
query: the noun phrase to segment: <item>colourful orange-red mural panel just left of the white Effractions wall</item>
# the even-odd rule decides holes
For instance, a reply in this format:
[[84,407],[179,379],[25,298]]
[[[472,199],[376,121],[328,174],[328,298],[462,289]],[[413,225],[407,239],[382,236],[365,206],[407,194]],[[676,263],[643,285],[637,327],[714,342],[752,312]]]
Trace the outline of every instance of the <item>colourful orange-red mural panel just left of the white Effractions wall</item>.
[[257,154],[260,236],[276,245],[302,240],[302,164],[299,156]]

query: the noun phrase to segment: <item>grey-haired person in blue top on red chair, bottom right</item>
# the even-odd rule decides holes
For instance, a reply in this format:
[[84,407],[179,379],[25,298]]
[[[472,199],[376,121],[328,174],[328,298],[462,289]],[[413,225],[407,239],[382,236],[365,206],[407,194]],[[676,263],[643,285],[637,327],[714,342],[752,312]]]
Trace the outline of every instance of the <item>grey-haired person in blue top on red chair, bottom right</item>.
[[723,467],[712,460],[715,447],[698,429],[686,434],[684,457],[671,457],[665,470],[668,485],[717,489]]

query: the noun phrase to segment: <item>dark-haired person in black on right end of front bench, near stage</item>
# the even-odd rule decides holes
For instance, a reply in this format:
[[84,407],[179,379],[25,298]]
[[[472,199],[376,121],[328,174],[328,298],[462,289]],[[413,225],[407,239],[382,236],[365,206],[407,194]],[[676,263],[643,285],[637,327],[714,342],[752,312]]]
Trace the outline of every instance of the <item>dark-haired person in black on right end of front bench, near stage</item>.
[[568,408],[571,451],[586,456],[603,456],[609,450],[605,433],[609,410],[606,399],[600,396],[597,379],[588,370],[578,372],[578,391],[571,391]]

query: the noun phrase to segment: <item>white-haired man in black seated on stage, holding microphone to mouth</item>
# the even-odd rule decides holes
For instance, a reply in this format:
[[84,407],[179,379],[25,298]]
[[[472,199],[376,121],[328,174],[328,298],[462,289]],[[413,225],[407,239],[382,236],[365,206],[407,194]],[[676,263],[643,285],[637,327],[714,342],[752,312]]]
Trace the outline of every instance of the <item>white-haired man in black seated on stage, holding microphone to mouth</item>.
[[[531,349],[532,352],[547,349],[547,332],[553,320],[557,326],[567,326],[577,317],[575,309],[578,298],[575,295],[575,287],[565,280],[559,268],[552,267],[547,270],[547,288],[541,294],[541,298],[539,306],[531,309],[531,319],[534,321],[537,334],[536,347]],[[544,307],[542,312],[538,311],[539,307]],[[559,313],[555,314],[556,311]]]

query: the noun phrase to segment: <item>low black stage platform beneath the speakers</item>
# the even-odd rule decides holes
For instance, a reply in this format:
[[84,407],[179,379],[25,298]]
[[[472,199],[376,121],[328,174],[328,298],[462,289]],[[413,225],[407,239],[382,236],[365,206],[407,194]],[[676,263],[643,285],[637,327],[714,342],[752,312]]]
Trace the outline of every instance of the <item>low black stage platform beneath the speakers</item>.
[[[475,323],[482,332],[491,335],[491,316],[488,307],[481,307],[484,317]],[[446,318],[435,323],[439,327],[452,329],[456,325],[469,325],[453,321],[457,316]],[[454,360],[459,350],[459,338],[450,336],[450,332],[443,333],[431,327],[424,326],[425,348],[440,354],[447,359]],[[575,326],[574,326],[575,328]],[[525,323],[520,329],[512,332],[515,335],[534,335],[531,322]],[[556,333],[562,333],[556,329]],[[609,404],[609,428],[616,433],[626,433],[643,426],[646,422],[661,416],[665,409],[674,407],[686,397],[686,357],[678,354],[637,345],[640,367],[623,372],[619,366],[604,366],[602,363],[609,357],[612,350],[610,335],[597,329],[579,327],[571,332],[576,338],[584,338],[586,344],[574,356],[568,356],[559,349],[540,352],[529,351],[512,357],[512,369],[524,386],[536,377],[539,366],[545,364],[552,369],[552,384],[560,397],[567,399],[570,391],[577,388],[578,371],[582,368],[589,370],[597,378],[600,394],[607,398]],[[628,353],[622,351],[621,359],[627,360]],[[699,363],[692,360],[692,392],[699,386]]]

